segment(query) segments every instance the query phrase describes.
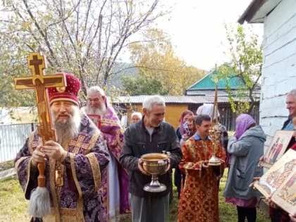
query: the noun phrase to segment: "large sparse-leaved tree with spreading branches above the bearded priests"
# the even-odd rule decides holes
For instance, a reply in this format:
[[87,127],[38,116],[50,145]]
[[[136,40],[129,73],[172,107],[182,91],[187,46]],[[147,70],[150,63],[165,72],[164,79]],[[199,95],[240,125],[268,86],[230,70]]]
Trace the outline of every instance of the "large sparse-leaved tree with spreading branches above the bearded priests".
[[1,71],[17,76],[12,61],[23,70],[28,51],[43,51],[47,73],[75,73],[85,93],[90,85],[104,87],[130,38],[164,15],[158,5],[159,0],[2,1],[1,47],[11,54]]

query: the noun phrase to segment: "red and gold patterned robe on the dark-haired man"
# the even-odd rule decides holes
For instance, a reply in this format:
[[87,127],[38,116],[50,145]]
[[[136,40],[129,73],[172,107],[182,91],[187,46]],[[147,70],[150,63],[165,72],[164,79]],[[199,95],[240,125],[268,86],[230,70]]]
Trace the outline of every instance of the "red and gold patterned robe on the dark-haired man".
[[[218,175],[211,166],[202,168],[202,161],[208,161],[214,153],[211,140],[190,137],[183,144],[182,153],[179,167],[185,181],[181,187],[178,222],[218,222]],[[220,144],[215,153],[225,161],[226,153]],[[223,168],[221,164],[220,172]]]

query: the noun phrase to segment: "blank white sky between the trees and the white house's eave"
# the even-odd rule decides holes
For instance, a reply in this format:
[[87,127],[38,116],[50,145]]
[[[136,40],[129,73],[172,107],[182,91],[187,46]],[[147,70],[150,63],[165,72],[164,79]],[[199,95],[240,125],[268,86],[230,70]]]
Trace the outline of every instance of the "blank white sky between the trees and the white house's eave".
[[[238,25],[238,18],[252,0],[163,0],[172,7],[170,16],[162,18],[158,27],[171,37],[175,54],[187,66],[210,70],[215,64],[229,60],[224,23]],[[249,25],[254,33],[263,35],[263,25]]]

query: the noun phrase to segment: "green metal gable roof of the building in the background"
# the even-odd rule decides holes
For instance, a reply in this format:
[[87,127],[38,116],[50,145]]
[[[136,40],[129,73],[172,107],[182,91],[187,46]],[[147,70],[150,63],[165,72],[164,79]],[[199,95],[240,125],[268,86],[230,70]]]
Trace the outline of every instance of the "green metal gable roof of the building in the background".
[[[216,83],[215,83],[215,75],[217,75],[217,70],[207,74],[201,80],[198,80],[190,86],[187,90],[215,90]],[[234,74],[235,75],[235,74]],[[230,88],[232,90],[236,90],[239,87],[242,87],[243,83],[242,80],[238,77],[228,78],[228,82],[230,84]],[[226,79],[218,79],[218,90],[225,90],[226,89]]]

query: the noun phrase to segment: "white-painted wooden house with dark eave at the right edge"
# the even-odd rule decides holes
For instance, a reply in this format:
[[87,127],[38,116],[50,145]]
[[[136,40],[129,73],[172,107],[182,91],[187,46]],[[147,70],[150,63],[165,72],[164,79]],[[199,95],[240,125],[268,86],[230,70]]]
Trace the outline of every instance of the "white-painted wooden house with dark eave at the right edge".
[[264,25],[259,119],[269,140],[288,116],[287,92],[296,88],[295,8],[295,0],[253,0],[238,20]]

